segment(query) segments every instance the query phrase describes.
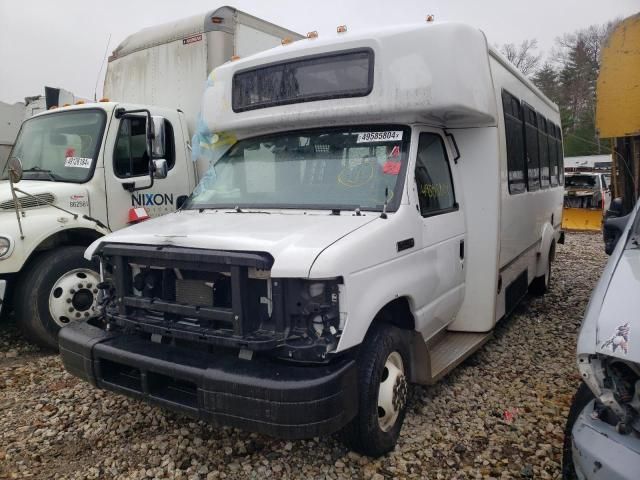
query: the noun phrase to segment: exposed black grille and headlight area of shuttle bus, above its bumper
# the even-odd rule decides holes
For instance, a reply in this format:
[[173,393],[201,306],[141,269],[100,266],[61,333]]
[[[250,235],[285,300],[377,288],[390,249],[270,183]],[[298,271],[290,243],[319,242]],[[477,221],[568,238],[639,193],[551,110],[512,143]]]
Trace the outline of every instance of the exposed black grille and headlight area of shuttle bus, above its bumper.
[[100,257],[110,330],[308,362],[337,347],[340,279],[271,278],[267,253],[107,244]]

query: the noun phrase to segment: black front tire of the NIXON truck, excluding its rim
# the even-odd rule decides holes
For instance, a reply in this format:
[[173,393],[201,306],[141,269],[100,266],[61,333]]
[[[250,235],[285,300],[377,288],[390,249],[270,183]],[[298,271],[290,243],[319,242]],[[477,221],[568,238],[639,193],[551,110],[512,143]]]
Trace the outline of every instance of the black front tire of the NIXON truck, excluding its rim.
[[[84,258],[86,247],[58,247],[34,258],[14,292],[16,323],[23,335],[41,347],[58,350],[60,325],[51,317],[49,295],[56,281],[75,269],[98,271]],[[71,320],[71,319],[70,319]]]

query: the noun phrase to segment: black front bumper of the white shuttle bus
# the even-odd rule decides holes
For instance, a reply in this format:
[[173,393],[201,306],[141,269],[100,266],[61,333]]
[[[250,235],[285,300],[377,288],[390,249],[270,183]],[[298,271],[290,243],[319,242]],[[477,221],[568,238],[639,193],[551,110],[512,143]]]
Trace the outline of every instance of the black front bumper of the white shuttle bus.
[[356,365],[243,360],[109,333],[87,322],[60,331],[69,373],[106,390],[218,425],[286,439],[327,435],[357,411]]

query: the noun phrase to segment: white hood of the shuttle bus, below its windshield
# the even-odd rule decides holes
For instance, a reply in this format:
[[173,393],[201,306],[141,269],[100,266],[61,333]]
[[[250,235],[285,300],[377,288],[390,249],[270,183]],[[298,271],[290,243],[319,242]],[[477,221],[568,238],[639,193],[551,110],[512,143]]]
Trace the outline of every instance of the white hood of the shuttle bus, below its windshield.
[[91,258],[107,242],[267,252],[274,258],[274,277],[305,278],[325,248],[378,217],[375,212],[356,216],[328,211],[188,210],[102,237],[87,249],[85,257]]

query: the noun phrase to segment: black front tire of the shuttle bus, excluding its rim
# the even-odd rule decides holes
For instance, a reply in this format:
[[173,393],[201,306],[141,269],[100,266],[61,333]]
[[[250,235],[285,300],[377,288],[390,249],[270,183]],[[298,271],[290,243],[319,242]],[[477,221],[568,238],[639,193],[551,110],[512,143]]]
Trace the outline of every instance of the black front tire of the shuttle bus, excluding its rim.
[[[399,385],[401,406],[393,426],[383,431],[378,420],[378,393],[386,370],[385,362],[393,352],[400,354],[404,367],[404,378]],[[395,448],[407,410],[409,358],[408,346],[396,327],[380,324],[365,337],[358,353],[358,414],[340,435],[352,450],[379,457]]]

